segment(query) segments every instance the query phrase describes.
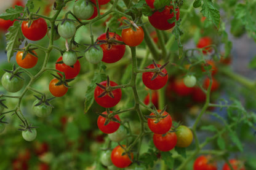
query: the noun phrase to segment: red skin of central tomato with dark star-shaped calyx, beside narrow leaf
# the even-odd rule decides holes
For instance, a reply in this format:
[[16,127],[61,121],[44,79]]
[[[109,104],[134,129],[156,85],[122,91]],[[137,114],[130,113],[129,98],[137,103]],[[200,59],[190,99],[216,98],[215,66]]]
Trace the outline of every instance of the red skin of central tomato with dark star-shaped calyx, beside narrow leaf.
[[[106,83],[107,83],[106,81],[103,81],[100,84],[106,87]],[[110,81],[111,87],[114,87],[117,85],[118,85],[117,83]],[[100,96],[103,92],[104,90],[102,90],[102,88],[98,86],[94,90],[94,99],[98,103],[98,105],[102,107],[105,107],[105,108],[114,107],[121,100],[122,91],[120,88],[112,91],[114,98],[111,98],[109,95],[105,95],[102,98],[98,98],[98,96]]]

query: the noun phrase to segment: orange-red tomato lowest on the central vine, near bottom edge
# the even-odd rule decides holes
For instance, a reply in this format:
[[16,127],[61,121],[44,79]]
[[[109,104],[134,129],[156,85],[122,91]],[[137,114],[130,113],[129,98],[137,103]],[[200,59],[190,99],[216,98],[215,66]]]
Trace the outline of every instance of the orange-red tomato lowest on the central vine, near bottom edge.
[[[126,147],[126,145],[122,145],[122,146]],[[122,149],[120,145],[115,147],[111,152],[111,161],[118,168],[126,168],[132,163],[132,161],[129,159],[129,156],[127,154],[122,155],[123,152],[124,152],[124,149]],[[133,153],[130,153],[130,156],[132,157],[132,159],[134,158]]]

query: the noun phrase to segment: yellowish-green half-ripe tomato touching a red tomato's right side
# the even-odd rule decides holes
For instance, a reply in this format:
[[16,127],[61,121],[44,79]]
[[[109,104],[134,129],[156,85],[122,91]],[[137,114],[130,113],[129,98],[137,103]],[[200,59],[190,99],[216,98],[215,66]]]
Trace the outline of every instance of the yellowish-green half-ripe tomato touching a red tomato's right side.
[[175,133],[177,135],[177,147],[188,147],[193,141],[193,133],[187,126],[178,126]]

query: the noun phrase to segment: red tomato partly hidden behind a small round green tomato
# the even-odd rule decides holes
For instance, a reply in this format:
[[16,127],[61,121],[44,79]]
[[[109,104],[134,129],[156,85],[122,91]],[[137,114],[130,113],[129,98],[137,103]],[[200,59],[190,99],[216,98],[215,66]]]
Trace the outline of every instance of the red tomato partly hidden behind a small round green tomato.
[[[58,61],[62,61],[62,56],[58,58],[57,62]],[[80,66],[79,60],[77,60],[76,63],[74,63],[73,68],[71,68],[70,66],[67,66],[65,63],[62,63],[62,64],[56,63],[55,69],[57,69],[58,71],[64,72],[66,79],[73,79],[79,74],[81,66]]]

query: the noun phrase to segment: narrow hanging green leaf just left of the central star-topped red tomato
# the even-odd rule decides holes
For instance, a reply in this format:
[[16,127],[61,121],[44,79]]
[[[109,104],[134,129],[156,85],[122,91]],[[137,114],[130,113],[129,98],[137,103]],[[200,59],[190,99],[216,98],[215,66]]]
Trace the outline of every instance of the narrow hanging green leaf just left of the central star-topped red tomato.
[[106,74],[100,74],[98,72],[94,73],[94,79],[92,79],[86,91],[84,113],[86,113],[94,103],[94,89],[96,87],[96,83],[100,83],[103,80],[106,80]]

